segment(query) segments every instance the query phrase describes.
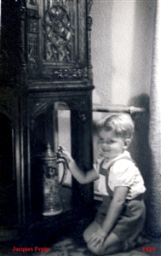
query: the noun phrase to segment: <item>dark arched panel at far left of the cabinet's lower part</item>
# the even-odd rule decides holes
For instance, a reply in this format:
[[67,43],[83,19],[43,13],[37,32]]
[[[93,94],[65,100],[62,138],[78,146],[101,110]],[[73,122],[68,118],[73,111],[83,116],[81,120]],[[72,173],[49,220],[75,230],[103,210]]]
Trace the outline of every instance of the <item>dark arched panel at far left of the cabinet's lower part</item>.
[[0,226],[14,226],[18,212],[12,128],[9,118],[3,113],[0,113],[0,123]]

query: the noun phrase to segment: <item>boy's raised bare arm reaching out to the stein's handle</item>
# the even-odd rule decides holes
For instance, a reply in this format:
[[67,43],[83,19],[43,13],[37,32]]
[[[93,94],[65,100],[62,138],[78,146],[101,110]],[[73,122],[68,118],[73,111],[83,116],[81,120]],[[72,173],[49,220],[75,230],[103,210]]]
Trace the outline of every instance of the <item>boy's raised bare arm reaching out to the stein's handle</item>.
[[91,183],[99,178],[99,174],[95,171],[95,169],[89,170],[88,172],[83,172],[76,162],[72,159],[72,155],[64,147],[60,147],[60,156],[64,157],[68,163],[68,167],[70,172],[72,172],[72,176],[77,179],[79,183]]

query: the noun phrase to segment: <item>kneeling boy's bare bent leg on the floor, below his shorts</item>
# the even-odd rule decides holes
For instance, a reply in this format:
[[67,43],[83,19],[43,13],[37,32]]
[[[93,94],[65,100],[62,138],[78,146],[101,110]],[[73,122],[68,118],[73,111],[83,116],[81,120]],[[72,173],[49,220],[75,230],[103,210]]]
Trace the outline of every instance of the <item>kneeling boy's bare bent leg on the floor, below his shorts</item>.
[[89,243],[90,236],[94,234],[99,228],[100,224],[94,221],[83,233],[83,238],[87,242],[87,246],[92,253],[95,255],[106,255],[124,250],[124,241],[120,241],[118,236],[116,236],[114,233],[111,233],[109,236],[107,236],[103,243],[97,244],[95,247],[92,246]]

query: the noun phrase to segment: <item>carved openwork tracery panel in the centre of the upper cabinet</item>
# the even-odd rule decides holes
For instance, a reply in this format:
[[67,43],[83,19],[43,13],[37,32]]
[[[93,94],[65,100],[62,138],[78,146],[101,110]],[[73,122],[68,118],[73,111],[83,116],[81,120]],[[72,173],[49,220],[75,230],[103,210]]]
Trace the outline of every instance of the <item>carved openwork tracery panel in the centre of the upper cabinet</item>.
[[75,1],[48,1],[43,9],[43,59],[50,62],[74,61],[76,25]]

